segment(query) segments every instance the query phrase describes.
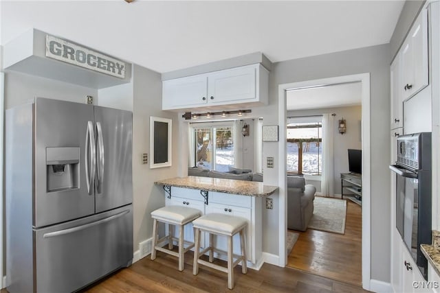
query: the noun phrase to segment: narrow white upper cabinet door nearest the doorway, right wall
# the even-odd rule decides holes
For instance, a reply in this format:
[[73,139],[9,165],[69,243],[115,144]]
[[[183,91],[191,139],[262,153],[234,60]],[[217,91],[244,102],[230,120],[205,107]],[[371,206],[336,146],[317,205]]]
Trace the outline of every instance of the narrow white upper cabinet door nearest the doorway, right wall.
[[403,119],[403,99],[401,88],[401,54],[397,54],[393,64],[391,64],[391,129],[402,127]]

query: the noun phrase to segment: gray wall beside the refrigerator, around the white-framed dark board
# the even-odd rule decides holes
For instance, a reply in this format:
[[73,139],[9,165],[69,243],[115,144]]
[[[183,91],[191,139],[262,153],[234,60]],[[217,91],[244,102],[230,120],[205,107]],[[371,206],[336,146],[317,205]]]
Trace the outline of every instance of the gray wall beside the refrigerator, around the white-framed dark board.
[[[155,180],[177,176],[177,113],[162,111],[162,81],[159,73],[133,65],[133,233],[134,250],[153,234],[151,211],[164,207],[165,196]],[[173,119],[171,167],[150,169],[142,165],[142,153],[150,153],[150,116]],[[150,158],[151,159],[151,158]]]

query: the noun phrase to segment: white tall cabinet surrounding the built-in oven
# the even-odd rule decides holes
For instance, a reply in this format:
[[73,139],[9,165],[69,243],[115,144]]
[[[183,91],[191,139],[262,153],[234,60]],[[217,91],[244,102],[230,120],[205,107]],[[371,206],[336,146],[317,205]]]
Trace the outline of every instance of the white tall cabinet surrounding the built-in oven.
[[[404,134],[404,103],[418,99],[428,85],[428,10],[421,10],[390,67],[391,164],[397,160],[397,137]],[[428,110],[428,109],[427,109]],[[434,116],[434,115],[433,115]],[[423,279],[396,228],[396,175],[391,172],[391,285],[394,292],[432,292],[417,288]]]

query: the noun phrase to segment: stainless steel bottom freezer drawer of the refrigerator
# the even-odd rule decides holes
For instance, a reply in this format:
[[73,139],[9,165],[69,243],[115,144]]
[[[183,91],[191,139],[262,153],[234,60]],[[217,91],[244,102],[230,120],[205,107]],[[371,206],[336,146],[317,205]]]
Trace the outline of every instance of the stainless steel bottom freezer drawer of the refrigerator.
[[36,292],[72,292],[133,259],[133,208],[34,230]]

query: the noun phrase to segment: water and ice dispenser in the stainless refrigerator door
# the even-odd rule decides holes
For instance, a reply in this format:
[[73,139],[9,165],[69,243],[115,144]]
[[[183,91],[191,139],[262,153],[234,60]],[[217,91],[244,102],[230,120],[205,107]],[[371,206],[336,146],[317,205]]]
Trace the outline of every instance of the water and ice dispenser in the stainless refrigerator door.
[[47,192],[78,188],[79,163],[80,148],[46,148]]

